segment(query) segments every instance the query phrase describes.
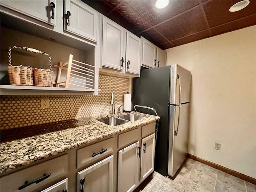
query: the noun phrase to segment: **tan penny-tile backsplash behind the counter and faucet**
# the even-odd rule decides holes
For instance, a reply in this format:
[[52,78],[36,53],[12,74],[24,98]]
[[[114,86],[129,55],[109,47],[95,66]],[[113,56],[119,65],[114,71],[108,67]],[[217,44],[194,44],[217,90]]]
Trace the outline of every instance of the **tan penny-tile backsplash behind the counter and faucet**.
[[[129,85],[129,78],[100,75],[98,96],[1,96],[1,130],[110,114],[112,91],[122,111]],[[49,97],[50,108],[41,108],[41,97]]]

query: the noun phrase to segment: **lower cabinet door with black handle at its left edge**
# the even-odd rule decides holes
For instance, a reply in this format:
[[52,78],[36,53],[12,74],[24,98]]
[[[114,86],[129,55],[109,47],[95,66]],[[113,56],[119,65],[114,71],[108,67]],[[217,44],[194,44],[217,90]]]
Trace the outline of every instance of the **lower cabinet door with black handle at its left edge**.
[[[77,173],[78,192],[112,192],[113,155]],[[84,180],[82,185],[80,182]],[[84,190],[82,190],[84,189]]]

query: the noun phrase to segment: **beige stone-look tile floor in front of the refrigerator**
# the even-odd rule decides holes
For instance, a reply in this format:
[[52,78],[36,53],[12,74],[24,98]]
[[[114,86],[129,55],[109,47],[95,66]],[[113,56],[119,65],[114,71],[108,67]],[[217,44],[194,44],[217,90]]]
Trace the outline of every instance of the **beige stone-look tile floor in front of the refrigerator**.
[[154,172],[141,192],[256,192],[256,185],[188,158],[174,180]]

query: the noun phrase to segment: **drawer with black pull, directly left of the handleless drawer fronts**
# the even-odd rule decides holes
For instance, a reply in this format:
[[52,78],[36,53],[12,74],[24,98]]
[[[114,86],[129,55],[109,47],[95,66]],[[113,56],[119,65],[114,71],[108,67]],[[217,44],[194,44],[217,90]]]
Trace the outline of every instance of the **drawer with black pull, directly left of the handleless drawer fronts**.
[[77,150],[77,168],[99,160],[114,151],[114,138],[110,138]]

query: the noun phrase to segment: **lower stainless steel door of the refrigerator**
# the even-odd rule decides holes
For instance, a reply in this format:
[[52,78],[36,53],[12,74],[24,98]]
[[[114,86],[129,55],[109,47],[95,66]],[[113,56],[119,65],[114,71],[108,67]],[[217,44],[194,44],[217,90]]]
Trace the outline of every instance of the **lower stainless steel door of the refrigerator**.
[[[173,177],[188,153],[188,110],[189,103],[170,106],[170,135],[168,153],[168,175]],[[177,131],[177,135],[175,135]]]

